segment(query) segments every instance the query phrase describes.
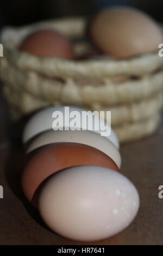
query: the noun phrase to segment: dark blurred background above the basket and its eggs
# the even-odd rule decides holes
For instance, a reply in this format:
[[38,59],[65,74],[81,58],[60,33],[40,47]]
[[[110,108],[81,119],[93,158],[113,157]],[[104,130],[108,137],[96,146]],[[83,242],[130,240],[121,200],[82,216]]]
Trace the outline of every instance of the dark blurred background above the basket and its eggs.
[[0,22],[4,25],[24,24],[62,16],[92,16],[111,5],[130,5],[163,22],[162,0],[1,0]]

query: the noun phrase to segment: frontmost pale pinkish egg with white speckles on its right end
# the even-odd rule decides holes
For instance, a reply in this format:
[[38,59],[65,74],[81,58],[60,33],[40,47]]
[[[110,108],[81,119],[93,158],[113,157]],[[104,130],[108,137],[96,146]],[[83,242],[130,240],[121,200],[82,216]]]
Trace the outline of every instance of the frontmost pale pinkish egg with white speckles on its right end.
[[114,170],[79,166],[58,172],[42,187],[40,215],[55,233],[95,241],[117,234],[139,209],[135,186]]

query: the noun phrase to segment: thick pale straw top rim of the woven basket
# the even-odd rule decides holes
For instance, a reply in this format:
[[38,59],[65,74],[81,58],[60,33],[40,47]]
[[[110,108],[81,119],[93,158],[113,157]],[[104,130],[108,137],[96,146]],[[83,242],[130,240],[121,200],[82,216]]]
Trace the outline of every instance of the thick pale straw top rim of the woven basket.
[[16,40],[20,42],[25,35],[39,28],[57,28],[62,33],[71,37],[75,35],[83,36],[85,26],[86,20],[83,17],[73,17],[38,22],[21,28],[4,28],[1,33],[4,56],[8,61],[15,63],[20,69],[32,70],[46,76],[54,75],[61,78],[96,78],[118,75],[134,75],[140,77],[163,68],[163,58],[159,57],[158,52],[140,54],[139,56],[120,60],[65,60],[36,57],[17,50],[15,46]]

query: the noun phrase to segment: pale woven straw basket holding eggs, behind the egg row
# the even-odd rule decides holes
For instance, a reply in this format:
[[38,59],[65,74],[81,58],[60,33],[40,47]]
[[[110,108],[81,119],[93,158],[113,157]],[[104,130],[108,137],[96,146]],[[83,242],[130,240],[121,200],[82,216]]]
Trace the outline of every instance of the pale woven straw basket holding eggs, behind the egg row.
[[76,56],[89,51],[86,20],[62,19],[1,33],[4,57],[0,75],[14,119],[52,105],[111,110],[111,122],[121,142],[156,130],[162,108],[163,58],[157,53],[126,60],[63,60],[39,58],[17,46],[29,33],[54,28],[73,40]]

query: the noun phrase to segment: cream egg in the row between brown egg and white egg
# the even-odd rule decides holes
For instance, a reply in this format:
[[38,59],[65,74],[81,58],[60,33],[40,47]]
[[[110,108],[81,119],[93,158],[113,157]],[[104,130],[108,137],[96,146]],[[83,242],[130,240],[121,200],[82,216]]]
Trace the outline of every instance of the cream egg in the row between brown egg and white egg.
[[43,132],[40,136],[37,136],[30,144],[27,150],[27,154],[47,144],[61,142],[73,142],[89,145],[93,148],[101,150],[117,164],[118,168],[121,167],[121,155],[115,145],[109,141],[109,139],[99,136],[97,133],[91,131],[49,130]]

